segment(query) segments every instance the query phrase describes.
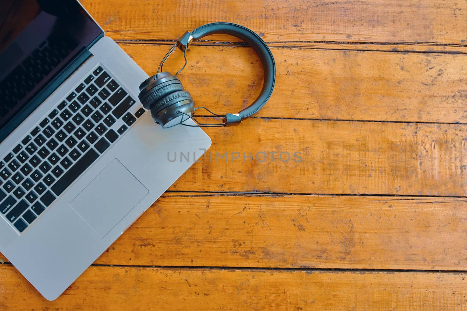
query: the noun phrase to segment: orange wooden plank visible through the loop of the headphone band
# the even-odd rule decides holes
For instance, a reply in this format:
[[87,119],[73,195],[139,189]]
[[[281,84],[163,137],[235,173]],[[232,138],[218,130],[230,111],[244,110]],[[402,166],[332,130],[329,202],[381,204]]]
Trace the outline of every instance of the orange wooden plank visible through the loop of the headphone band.
[[[149,75],[167,45],[120,45]],[[260,117],[467,122],[467,55],[273,48],[276,88]],[[149,55],[149,56],[148,56]],[[250,48],[191,47],[180,73],[198,105],[238,112],[258,96],[262,67]],[[164,70],[182,66],[174,53]]]

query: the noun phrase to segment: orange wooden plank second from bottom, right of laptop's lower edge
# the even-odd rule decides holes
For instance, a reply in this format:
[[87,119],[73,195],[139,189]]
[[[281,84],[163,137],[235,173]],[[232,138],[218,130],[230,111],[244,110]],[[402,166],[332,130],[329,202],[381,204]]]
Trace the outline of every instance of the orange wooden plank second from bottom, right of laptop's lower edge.
[[467,270],[466,202],[167,193],[96,263]]

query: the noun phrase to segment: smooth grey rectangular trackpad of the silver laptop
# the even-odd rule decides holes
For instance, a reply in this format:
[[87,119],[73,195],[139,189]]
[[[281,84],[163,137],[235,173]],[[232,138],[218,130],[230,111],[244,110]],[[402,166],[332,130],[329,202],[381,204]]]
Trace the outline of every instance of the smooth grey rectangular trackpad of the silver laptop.
[[70,206],[103,238],[148,193],[148,189],[114,159]]

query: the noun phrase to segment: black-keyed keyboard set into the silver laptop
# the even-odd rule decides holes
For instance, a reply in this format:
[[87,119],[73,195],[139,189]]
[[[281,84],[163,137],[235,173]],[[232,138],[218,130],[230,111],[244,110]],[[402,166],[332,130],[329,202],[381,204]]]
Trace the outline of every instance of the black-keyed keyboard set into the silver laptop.
[[2,216],[20,233],[37,221],[141,117],[134,103],[102,65],[86,75],[0,161]]

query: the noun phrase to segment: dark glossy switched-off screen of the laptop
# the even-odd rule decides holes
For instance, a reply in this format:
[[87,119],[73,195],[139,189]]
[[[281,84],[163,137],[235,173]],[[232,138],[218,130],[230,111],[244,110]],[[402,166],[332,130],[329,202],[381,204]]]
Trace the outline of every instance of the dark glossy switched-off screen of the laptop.
[[76,0],[0,0],[0,131],[101,34]]

